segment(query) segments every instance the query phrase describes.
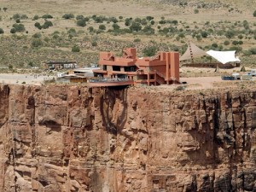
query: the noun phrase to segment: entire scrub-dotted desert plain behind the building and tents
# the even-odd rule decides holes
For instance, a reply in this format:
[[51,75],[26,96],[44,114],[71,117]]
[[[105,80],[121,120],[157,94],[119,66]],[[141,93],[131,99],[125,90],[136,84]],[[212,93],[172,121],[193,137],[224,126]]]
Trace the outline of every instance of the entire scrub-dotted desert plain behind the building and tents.
[[[255,65],[253,1],[0,1],[0,67],[42,67],[46,61],[96,63],[100,51],[124,47],[154,55],[182,55],[189,41],[201,49],[236,49]],[[201,58],[208,61],[209,58]]]

